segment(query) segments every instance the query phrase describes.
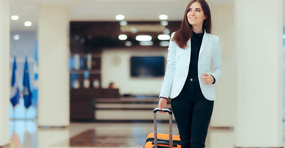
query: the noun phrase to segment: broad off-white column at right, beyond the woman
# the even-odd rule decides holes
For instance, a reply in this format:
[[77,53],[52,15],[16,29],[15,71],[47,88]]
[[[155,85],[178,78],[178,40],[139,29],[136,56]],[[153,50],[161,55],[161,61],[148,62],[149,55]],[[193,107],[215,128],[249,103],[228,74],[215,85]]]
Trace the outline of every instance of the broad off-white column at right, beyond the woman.
[[235,1],[236,147],[283,147],[282,15],[280,0]]

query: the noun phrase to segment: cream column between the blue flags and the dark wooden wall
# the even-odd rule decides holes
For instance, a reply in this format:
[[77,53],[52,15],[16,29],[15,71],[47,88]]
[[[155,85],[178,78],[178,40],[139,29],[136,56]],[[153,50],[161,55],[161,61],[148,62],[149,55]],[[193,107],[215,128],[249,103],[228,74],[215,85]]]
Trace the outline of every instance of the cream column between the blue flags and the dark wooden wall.
[[38,126],[68,126],[69,32],[68,9],[62,5],[39,7]]

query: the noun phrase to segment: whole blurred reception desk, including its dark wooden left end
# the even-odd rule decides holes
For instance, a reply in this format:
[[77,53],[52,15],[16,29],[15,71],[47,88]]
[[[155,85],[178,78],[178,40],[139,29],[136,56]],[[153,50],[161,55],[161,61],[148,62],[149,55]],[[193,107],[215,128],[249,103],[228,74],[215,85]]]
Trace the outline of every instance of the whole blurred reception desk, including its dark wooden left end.
[[[158,97],[120,97],[117,89],[76,89],[70,93],[70,120],[153,122],[153,109],[158,101]],[[167,108],[171,109],[170,100]],[[157,113],[158,122],[168,122],[168,119],[168,114]]]

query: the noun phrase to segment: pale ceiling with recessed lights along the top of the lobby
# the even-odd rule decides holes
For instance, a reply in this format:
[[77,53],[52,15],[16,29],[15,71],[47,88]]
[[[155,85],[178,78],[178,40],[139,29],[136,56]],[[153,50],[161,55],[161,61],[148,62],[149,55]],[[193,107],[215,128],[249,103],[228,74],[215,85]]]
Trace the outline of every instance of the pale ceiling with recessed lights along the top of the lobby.
[[[10,15],[19,20],[10,20],[11,31],[32,31],[38,26],[38,7],[41,4],[61,4],[69,8],[69,19],[81,21],[116,21],[123,14],[126,21],[159,21],[160,14],[167,20],[182,20],[189,0],[10,0]],[[212,3],[234,3],[234,0],[208,0]],[[25,27],[24,21],[31,21]]]

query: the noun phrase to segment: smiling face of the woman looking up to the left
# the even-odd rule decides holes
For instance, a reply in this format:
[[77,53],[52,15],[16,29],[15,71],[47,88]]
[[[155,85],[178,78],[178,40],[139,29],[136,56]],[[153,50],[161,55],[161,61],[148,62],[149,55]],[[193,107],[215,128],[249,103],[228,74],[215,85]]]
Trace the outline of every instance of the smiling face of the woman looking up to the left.
[[203,21],[206,19],[204,11],[200,3],[194,2],[188,8],[187,20],[191,25],[203,25]]

